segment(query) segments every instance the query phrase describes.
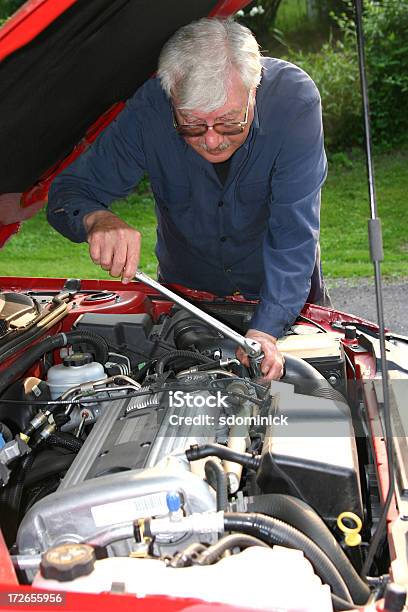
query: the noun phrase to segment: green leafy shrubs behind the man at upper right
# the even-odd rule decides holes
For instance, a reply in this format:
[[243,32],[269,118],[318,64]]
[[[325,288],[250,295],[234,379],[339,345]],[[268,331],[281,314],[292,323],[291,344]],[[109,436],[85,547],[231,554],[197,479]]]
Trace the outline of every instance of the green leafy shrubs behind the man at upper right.
[[[356,33],[349,12],[334,19],[341,40],[318,53],[291,51],[286,59],[305,70],[322,96],[326,143],[336,151],[363,143]],[[387,148],[407,139],[408,0],[366,0],[364,33],[371,126],[375,144]]]

